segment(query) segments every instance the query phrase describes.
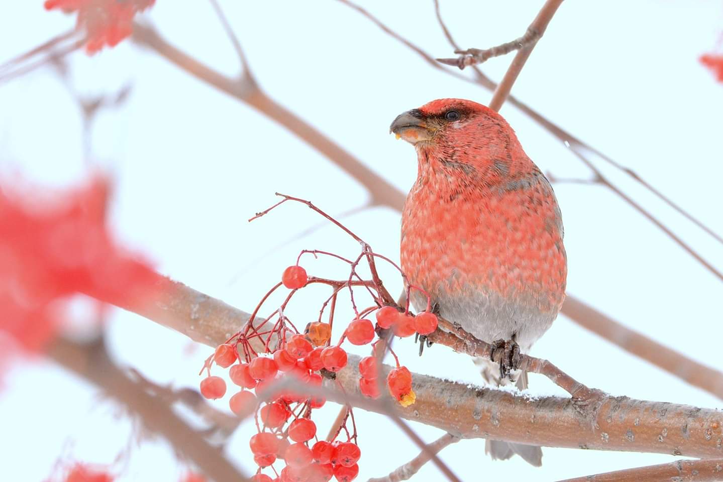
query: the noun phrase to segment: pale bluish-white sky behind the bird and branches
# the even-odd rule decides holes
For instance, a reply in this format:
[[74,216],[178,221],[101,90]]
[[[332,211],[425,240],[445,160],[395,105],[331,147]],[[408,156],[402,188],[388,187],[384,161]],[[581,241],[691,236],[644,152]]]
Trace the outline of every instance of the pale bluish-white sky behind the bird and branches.
[[[411,147],[388,135],[394,117],[442,97],[486,103],[489,92],[430,69],[368,20],[335,1],[221,2],[260,85],[399,189],[416,174]],[[462,46],[486,47],[523,33],[541,1],[442,2],[442,14]],[[364,6],[435,56],[450,56],[432,1],[366,1]],[[176,46],[235,74],[238,62],[210,5],[158,0],[147,15]],[[0,63],[72,27],[42,2],[16,2],[0,17]],[[719,1],[622,0],[562,4],[536,47],[514,93],[574,135],[628,165],[675,202],[723,233],[720,132],[723,85],[697,62],[723,30]],[[510,59],[484,66],[500,78]],[[364,205],[363,186],[272,121],[192,79],[155,54],[123,43],[111,51],[70,58],[73,83],[84,94],[131,85],[127,104],[101,114],[93,130],[93,164],[116,176],[112,210],[118,236],[153,259],[161,272],[241,309],[292,264],[300,249],[356,254],[353,241],[326,225],[299,236],[320,218],[288,205],[247,223],[273,204],[274,191],[312,199],[341,214]],[[514,108],[502,114],[543,171],[583,177],[585,168],[543,129]],[[82,118],[51,69],[0,85],[0,173],[22,173],[43,185],[65,186],[86,176]],[[718,270],[723,248],[619,172],[597,165],[667,225],[683,234]],[[602,187],[558,184],[570,260],[568,292],[655,340],[723,369],[719,280],[659,230]],[[375,251],[398,258],[399,215],[365,210],[343,218]],[[333,263],[306,259],[309,272],[338,274]],[[387,272],[392,284],[393,272]],[[290,309],[302,326],[315,317],[322,291]],[[270,306],[273,306],[270,305]],[[341,314],[341,311],[340,311]],[[294,315],[296,318],[294,318]],[[119,363],[159,383],[197,386],[210,348],[145,319],[116,311],[108,324]],[[413,371],[478,383],[464,356],[435,347],[417,358],[411,340],[397,343]],[[364,353],[364,352],[359,352]],[[721,408],[720,400],[560,317],[534,347],[572,376],[615,395]],[[531,376],[531,389],[558,393]],[[226,409],[227,400],[218,401]],[[322,429],[337,408],[320,410]],[[0,479],[38,481],[59,455],[108,463],[125,447],[130,427],[93,387],[48,363],[25,362],[0,393]],[[419,450],[385,418],[356,412],[362,449],[360,481],[388,473]],[[440,431],[414,425],[428,441]],[[252,470],[244,426],[228,455]],[[515,458],[482,457],[484,441],[442,452],[464,481],[556,480],[674,460],[667,455],[544,449],[543,468]],[[182,472],[164,442],[145,442],[119,481],[175,481]],[[480,475],[484,474],[484,475]],[[416,480],[439,480],[432,465]]]

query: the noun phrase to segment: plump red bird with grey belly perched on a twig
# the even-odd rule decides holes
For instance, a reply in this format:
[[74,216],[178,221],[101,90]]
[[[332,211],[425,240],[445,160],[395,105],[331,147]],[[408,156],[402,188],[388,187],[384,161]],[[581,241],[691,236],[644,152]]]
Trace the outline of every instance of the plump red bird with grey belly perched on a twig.
[[[480,340],[527,352],[565,298],[562,218],[549,181],[507,121],[471,100],[433,100],[402,113],[390,130],[414,145],[419,163],[402,213],[409,283]],[[427,299],[412,293],[424,310]],[[488,382],[505,382],[500,366],[482,364]],[[515,376],[526,388],[526,374]],[[540,447],[492,440],[485,451],[542,464]]]

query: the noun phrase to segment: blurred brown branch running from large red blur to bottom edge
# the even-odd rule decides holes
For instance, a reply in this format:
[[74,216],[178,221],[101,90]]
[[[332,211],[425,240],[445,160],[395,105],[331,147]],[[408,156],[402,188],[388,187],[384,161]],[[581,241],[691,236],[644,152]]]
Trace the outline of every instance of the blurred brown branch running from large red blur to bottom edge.
[[213,480],[248,481],[223,456],[221,449],[206,442],[164,400],[149,395],[142,384],[129,378],[124,370],[116,366],[108,357],[102,340],[76,343],[58,338],[48,349],[48,356],[74,374],[98,385],[106,395],[136,413],[147,429],[163,435],[174,449],[192,460]]

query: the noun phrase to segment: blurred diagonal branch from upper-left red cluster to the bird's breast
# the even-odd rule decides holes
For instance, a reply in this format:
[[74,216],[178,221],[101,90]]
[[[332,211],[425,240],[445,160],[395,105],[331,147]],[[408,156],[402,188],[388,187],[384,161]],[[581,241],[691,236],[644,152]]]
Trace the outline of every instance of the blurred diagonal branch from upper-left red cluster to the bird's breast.
[[326,158],[333,160],[336,165],[361,184],[377,186],[375,192],[372,193],[372,204],[388,207],[403,204],[405,196],[400,191],[382,177],[364,167],[361,160],[354,158],[353,155],[333,142],[333,140],[268,97],[251,77],[244,77],[240,81],[228,79],[228,77],[193,59],[187,53],[171,46],[150,27],[136,24],[132,39],[141,46],[153,49],[163,58],[194,77],[213,85],[237,100],[241,100],[241,102],[257,109],[260,113],[286,127]]

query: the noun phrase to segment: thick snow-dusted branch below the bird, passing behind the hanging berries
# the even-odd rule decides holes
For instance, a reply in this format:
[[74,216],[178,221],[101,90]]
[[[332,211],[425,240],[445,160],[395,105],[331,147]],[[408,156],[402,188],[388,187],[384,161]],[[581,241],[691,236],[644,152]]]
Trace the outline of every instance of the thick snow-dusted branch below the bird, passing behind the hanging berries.
[[[153,306],[125,306],[210,346],[228,339],[249,314],[158,276],[166,296]],[[112,300],[104,300],[111,301]],[[329,400],[387,413],[388,405],[359,392],[359,356],[349,355],[336,375],[340,391]],[[392,367],[382,366],[382,374]],[[587,410],[565,397],[529,398],[413,374],[416,403],[395,407],[401,418],[464,438],[489,438],[546,447],[656,452],[690,457],[721,454],[723,413],[675,403],[601,396]],[[312,390],[311,387],[309,390]],[[384,395],[388,398],[389,395]],[[583,411],[585,412],[583,414]],[[424,447],[424,444],[422,444]]]

